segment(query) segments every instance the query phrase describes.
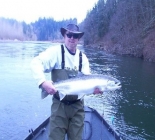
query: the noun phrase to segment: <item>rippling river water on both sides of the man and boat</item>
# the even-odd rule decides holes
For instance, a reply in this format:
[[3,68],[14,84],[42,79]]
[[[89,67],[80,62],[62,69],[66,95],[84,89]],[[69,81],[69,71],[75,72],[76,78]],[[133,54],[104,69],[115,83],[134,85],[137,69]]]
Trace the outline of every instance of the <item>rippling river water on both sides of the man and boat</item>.
[[[0,140],[22,140],[50,115],[51,97],[41,99],[30,69],[32,58],[49,45],[57,44],[0,42]],[[123,140],[155,140],[155,63],[79,48],[92,73],[122,83],[115,92],[86,96],[85,104],[97,109]]]

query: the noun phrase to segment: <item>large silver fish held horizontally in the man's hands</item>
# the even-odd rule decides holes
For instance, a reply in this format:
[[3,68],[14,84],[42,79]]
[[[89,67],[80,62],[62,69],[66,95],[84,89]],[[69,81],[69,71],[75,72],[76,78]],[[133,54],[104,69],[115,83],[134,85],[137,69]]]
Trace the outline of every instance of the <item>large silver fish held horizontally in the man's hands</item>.
[[[66,95],[78,95],[78,99],[81,99],[85,95],[93,94],[95,88],[102,92],[114,91],[121,88],[121,83],[108,75],[90,74],[62,80],[54,83],[54,86],[58,90],[60,100],[62,100]],[[41,96],[43,99],[48,96],[48,93],[42,90]]]

